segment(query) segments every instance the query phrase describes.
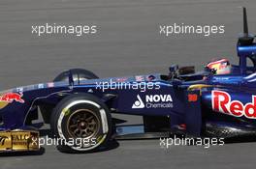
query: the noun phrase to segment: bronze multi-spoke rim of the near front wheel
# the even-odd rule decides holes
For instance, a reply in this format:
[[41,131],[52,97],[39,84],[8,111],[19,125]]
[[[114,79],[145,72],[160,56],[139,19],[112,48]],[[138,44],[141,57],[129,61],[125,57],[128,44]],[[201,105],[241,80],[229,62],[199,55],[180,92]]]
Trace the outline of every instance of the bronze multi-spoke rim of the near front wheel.
[[88,109],[79,109],[68,119],[68,132],[73,138],[93,138],[97,135],[100,125],[96,114]]

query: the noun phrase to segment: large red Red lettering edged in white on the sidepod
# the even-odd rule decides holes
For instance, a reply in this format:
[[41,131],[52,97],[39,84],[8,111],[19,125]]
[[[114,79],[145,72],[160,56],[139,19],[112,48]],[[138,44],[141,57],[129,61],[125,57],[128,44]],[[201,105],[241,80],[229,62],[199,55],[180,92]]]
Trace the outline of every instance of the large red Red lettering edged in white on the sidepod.
[[211,96],[212,110],[236,117],[256,119],[256,96],[252,96],[252,102],[246,104],[240,100],[231,100],[230,95],[223,91],[212,91]]

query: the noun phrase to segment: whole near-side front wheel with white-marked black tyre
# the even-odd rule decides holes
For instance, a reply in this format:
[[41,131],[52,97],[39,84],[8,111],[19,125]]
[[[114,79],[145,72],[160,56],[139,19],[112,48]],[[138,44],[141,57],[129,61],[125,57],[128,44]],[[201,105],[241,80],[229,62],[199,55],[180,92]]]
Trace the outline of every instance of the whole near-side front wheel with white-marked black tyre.
[[109,108],[90,94],[74,94],[53,109],[50,127],[59,151],[91,153],[108,149],[112,136]]

